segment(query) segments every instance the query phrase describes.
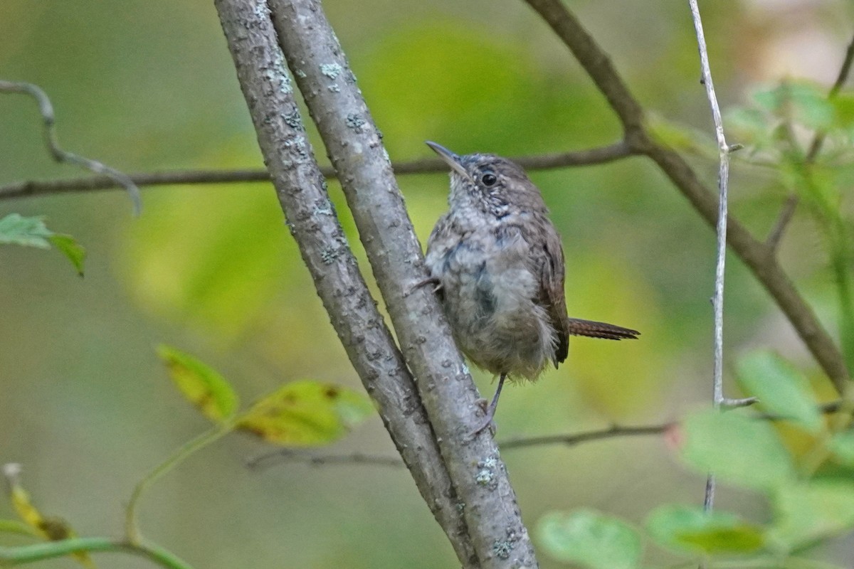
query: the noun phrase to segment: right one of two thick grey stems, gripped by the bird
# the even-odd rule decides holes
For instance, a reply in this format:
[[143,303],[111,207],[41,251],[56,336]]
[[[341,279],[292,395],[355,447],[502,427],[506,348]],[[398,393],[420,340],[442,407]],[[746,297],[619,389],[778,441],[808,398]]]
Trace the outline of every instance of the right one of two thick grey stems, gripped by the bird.
[[[269,0],[285,59],[338,172],[407,364],[417,378],[481,566],[535,567],[528,531],[498,448],[472,437],[483,416],[471,376],[429,287],[383,148],[340,44],[316,0]],[[464,560],[465,562],[466,560]]]

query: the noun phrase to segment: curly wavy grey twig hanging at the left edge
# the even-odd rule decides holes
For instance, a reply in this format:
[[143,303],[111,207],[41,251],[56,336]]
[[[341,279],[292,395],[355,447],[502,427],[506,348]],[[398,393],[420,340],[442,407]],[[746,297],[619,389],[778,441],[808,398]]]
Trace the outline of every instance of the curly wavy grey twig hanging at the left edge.
[[50,104],[50,98],[48,98],[44,90],[41,90],[38,85],[34,85],[32,83],[0,81],[0,92],[24,93],[32,96],[32,98],[38,102],[38,112],[41,113],[42,120],[44,122],[44,143],[50,150],[50,155],[53,156],[53,159],[57,162],[69,162],[71,164],[83,166],[96,174],[102,174],[106,177],[112,178],[114,183],[127,190],[127,193],[131,196],[131,201],[133,203],[134,215],[139,215],[139,212],[142,210],[143,202],[139,195],[139,188],[137,188],[137,184],[133,183],[133,180],[130,177],[127,177],[122,172],[115,170],[114,168],[110,168],[108,165],[104,165],[97,160],[91,160],[80,156],[79,154],[73,154],[60,147],[59,139],[56,136],[56,117],[54,116],[53,105]]

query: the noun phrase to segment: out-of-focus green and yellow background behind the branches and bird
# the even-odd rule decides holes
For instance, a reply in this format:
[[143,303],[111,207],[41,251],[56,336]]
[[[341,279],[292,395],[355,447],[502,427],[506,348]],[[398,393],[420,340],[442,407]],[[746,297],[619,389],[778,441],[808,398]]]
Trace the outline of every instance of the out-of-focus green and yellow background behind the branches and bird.
[[[687,3],[570,5],[651,113],[711,132]],[[429,156],[427,139],[459,153],[521,155],[620,136],[603,98],[524,3],[326,0],[325,9],[393,160]],[[724,107],[783,77],[830,84],[851,34],[852,10],[842,1],[728,0],[702,9]],[[209,1],[3,0],[0,78],[43,87],[65,147],[120,170],[261,165]],[[315,143],[322,156],[321,148]],[[714,161],[694,164],[713,185]],[[0,96],[0,183],[79,175],[50,161],[32,100]],[[561,369],[505,393],[500,437],[670,421],[705,404],[711,230],[640,158],[532,178],[563,235],[570,313],[643,336],[573,340]],[[425,241],[446,207],[447,177],[400,183]],[[330,191],[364,261],[335,183]],[[782,190],[736,167],[733,193],[734,212],[766,234]],[[44,215],[89,253],[80,279],[59,253],[0,247],[0,462],[23,463],[38,504],[83,535],[120,535],[137,479],[207,427],[167,380],[155,345],[211,363],[246,402],[291,380],[360,386],[268,184],[144,189],[143,201],[141,218],[117,190],[0,202],[0,216]],[[781,255],[833,328],[830,277],[808,219],[796,219]],[[814,369],[735,258],[726,318],[730,361],[770,345]],[[491,378],[476,379],[491,394]],[[404,470],[249,471],[245,461],[266,450],[235,434],[193,456],[144,498],[143,532],[212,569],[454,565]],[[393,453],[378,417],[328,450]],[[640,523],[659,503],[702,499],[704,480],[661,438],[507,450],[504,458],[530,526],[549,510],[582,506]],[[757,496],[726,487],[718,503],[765,515]],[[0,518],[11,515],[0,501]],[[652,546],[648,554],[666,560]],[[102,563],[147,566],[126,556]],[[559,566],[545,555],[541,563]]]

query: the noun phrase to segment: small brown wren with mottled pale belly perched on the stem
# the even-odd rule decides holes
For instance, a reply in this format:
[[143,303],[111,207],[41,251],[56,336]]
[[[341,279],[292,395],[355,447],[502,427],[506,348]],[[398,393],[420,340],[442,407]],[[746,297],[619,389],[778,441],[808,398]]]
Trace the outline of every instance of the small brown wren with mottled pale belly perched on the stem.
[[626,340],[640,333],[567,316],[560,236],[521,167],[494,154],[458,156],[427,145],[451,167],[450,207],[427,241],[430,281],[460,351],[499,376],[479,433],[492,424],[504,381],[536,380],[548,362],[557,368],[570,335]]

